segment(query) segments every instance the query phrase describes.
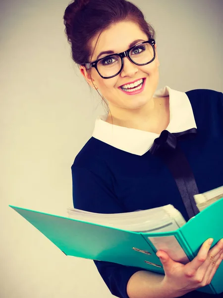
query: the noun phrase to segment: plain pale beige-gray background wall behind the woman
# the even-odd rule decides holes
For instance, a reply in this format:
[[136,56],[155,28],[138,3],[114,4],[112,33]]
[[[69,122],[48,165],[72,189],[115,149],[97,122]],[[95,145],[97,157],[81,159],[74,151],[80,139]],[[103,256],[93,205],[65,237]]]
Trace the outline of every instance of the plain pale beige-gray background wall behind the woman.
[[[223,1],[135,0],[157,33],[159,88],[223,91]],[[0,297],[112,297],[8,204],[66,215],[70,166],[103,114],[70,57],[66,0],[0,2]]]

